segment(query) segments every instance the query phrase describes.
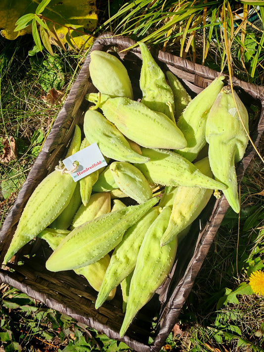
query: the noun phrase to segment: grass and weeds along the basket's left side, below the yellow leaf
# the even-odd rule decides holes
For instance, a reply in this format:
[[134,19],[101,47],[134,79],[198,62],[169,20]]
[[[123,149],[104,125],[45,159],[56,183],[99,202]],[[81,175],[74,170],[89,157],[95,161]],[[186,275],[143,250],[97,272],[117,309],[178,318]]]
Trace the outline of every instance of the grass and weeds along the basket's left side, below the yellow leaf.
[[[81,54],[60,51],[54,57],[49,53],[30,56],[28,51],[33,49],[31,36],[20,37],[14,43],[3,38],[0,41],[1,150],[6,138],[14,138],[16,148],[16,152],[7,152],[11,157],[8,163],[0,163],[0,226],[53,125],[83,59]],[[62,100],[51,99],[49,92],[52,88],[55,89],[53,95],[60,94]]]

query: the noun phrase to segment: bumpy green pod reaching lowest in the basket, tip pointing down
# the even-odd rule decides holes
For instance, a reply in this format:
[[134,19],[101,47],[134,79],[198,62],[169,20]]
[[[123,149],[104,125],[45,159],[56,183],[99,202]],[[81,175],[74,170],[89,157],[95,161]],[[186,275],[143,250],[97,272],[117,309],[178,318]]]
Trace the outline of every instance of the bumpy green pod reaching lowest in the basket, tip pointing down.
[[168,225],[170,213],[170,207],[165,206],[144,237],[130,282],[120,337],[124,336],[138,311],[150,301],[172,268],[177,251],[176,238],[160,247],[160,239]]

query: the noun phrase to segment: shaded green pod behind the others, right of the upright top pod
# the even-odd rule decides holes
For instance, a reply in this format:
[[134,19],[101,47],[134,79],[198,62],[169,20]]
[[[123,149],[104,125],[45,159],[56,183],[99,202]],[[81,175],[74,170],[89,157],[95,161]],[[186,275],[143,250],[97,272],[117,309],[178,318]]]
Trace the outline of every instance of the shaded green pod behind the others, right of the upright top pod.
[[172,72],[166,71],[166,76],[174,96],[174,116],[177,121],[192,98]]

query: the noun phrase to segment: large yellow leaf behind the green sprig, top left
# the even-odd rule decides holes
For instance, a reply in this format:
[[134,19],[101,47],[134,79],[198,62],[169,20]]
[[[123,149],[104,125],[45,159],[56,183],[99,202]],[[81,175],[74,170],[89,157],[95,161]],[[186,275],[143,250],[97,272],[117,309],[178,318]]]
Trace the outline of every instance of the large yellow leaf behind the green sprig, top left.
[[[35,13],[41,0],[1,0],[0,1],[0,28],[1,35],[13,40],[20,35],[32,33],[31,25],[14,32],[16,21],[27,13]],[[41,13],[50,30],[56,31],[59,42],[68,44],[75,49],[88,48],[93,37],[85,33],[92,32],[98,23],[95,0],[51,0]],[[69,43],[70,41],[70,43]],[[50,36],[50,42],[57,45],[55,38]]]

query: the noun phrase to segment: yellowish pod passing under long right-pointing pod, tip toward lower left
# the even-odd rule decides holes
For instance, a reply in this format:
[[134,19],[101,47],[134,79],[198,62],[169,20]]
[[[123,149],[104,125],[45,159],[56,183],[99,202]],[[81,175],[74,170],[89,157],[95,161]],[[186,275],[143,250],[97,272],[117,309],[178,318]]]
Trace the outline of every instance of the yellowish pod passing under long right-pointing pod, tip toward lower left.
[[[195,163],[205,175],[212,177],[209,158]],[[185,230],[202,212],[211,198],[213,190],[200,187],[177,187],[168,226],[164,232],[160,246],[164,246]]]

